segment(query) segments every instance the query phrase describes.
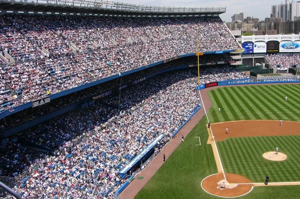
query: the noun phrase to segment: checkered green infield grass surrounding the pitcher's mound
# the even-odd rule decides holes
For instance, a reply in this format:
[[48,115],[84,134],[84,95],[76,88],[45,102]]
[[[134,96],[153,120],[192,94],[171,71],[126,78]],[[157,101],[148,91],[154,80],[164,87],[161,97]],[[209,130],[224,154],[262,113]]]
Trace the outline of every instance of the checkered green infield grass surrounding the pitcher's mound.
[[[263,136],[227,138],[217,142],[220,158],[226,173],[240,174],[254,183],[264,182],[270,176],[270,182],[300,181],[298,171],[300,153],[295,146],[300,143],[300,136]],[[262,157],[267,151],[274,151],[278,146],[286,154],[285,161],[269,161]]]

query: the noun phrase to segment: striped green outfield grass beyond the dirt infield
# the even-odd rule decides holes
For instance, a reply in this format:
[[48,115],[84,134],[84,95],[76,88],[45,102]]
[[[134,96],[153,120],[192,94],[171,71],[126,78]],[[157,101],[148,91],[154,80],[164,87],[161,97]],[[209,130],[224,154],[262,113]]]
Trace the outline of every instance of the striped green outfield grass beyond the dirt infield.
[[[235,120],[300,122],[300,85],[224,87],[209,91],[211,123]],[[285,101],[288,97],[288,101]],[[221,108],[221,113],[218,113]]]

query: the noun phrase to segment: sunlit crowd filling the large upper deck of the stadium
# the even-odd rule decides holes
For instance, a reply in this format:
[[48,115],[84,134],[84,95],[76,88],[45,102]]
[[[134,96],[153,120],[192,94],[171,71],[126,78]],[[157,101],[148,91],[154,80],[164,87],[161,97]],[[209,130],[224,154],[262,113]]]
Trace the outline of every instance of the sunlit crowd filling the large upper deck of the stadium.
[[197,28],[201,51],[240,48],[219,17],[4,14],[0,28],[1,55],[10,55],[0,71],[3,109],[195,53]]

